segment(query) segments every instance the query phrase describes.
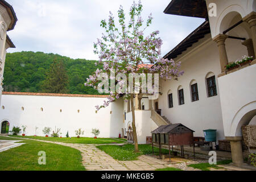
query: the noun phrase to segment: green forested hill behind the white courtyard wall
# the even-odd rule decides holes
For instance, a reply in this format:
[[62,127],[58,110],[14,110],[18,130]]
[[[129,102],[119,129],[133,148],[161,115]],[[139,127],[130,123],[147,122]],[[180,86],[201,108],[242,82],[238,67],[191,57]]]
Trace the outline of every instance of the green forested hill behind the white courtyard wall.
[[67,92],[71,94],[97,94],[97,90],[85,87],[86,78],[98,68],[96,61],[71,59],[43,52],[7,53],[3,88],[6,92],[42,92],[42,81],[53,60],[63,60],[68,73]]

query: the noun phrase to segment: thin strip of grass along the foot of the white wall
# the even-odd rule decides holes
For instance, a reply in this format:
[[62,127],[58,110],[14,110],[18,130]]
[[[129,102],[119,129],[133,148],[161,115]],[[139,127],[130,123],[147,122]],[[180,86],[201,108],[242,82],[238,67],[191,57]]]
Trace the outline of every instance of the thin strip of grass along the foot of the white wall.
[[54,137],[32,137],[32,136],[10,136],[10,137],[18,137],[18,138],[31,138],[31,139],[39,139],[39,140],[47,140],[52,142],[63,142],[63,143],[84,143],[84,144],[109,144],[109,143],[123,143],[121,140],[115,140],[112,138],[54,138]]

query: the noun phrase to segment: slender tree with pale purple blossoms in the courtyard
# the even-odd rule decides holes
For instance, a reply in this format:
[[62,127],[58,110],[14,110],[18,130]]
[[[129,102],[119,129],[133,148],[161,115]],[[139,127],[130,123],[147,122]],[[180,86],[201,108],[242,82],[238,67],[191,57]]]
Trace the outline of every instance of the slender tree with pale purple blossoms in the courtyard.
[[[133,115],[133,137],[135,151],[139,151],[137,132],[135,126],[135,111],[134,111],[134,92],[138,85],[129,85],[126,88],[127,80],[123,77],[129,77],[133,74],[145,73],[159,73],[159,77],[165,80],[174,79],[183,75],[179,71],[180,63],[175,63],[174,60],[162,59],[161,46],[162,40],[158,37],[159,31],[154,31],[150,35],[144,35],[144,31],[152,23],[152,14],[150,14],[146,21],[141,17],[142,5],[133,3],[129,11],[129,19],[126,19],[123,7],[120,6],[118,10],[118,23],[115,22],[113,14],[110,12],[108,22],[101,21],[101,27],[105,29],[105,34],[102,34],[101,39],[97,39],[94,43],[94,53],[99,57],[98,63],[102,65],[103,69],[97,71],[89,76],[85,86],[93,86],[94,89],[99,88],[102,80],[109,82],[110,85],[104,85],[105,93],[108,93],[108,99],[104,101],[101,106],[96,106],[97,110],[109,106],[118,98],[122,97],[125,101],[131,101],[131,111]],[[152,67],[140,67],[141,64],[151,64]],[[115,78],[117,75],[122,77]],[[103,76],[102,76],[103,75]],[[105,78],[103,78],[105,77]],[[139,92],[141,92],[142,82],[139,85]],[[117,90],[113,90],[118,86]],[[102,85],[100,86],[102,87]],[[111,90],[108,92],[108,90]],[[99,89],[98,89],[99,90]],[[97,111],[96,111],[97,112]]]

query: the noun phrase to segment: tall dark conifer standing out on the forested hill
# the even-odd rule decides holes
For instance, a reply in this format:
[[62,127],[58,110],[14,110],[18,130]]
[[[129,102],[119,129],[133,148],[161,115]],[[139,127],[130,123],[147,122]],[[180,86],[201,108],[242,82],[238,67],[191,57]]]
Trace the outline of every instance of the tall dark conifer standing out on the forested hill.
[[46,73],[46,80],[42,83],[45,93],[68,93],[68,75],[62,60],[55,60]]

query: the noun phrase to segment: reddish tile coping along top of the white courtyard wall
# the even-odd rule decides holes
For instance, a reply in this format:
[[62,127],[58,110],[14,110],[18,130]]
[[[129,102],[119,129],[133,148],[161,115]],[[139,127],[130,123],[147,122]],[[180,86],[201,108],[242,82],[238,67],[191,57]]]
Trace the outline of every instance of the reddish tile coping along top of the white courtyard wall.
[[102,95],[82,95],[82,94],[59,94],[59,93],[28,93],[28,92],[3,92],[3,95],[17,95],[17,96],[55,96],[55,97],[96,97],[106,98],[108,96]]

